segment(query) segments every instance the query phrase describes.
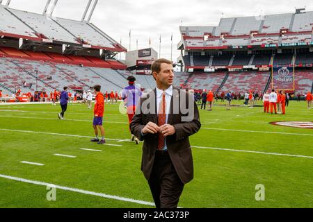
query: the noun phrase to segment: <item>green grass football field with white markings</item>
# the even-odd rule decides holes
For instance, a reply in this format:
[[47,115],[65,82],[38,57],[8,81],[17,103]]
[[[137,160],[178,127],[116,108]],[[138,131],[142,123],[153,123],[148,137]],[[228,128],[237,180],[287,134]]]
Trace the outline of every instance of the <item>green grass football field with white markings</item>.
[[[0,106],[0,207],[152,207],[65,189],[48,201],[47,186],[20,180],[153,202],[140,170],[142,144],[129,141],[127,116],[118,105],[107,104],[104,117],[106,142],[118,146],[89,142],[93,112],[85,105],[69,105],[64,121],[59,111],[50,104]],[[270,124],[313,121],[304,101],[291,101],[285,116],[260,107],[216,106],[200,110],[200,118],[200,132],[190,138],[195,177],[179,207],[313,207],[313,130]],[[259,184],[264,201],[255,200]]]

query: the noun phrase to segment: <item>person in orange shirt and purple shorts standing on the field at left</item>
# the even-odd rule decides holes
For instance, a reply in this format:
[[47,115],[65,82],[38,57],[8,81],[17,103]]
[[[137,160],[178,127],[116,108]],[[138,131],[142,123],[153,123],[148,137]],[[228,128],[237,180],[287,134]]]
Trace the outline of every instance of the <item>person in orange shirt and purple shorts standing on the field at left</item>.
[[[95,139],[91,139],[91,142],[97,142],[97,144],[105,144],[106,140],[104,139],[104,128],[102,126],[103,115],[104,115],[104,96],[101,90],[101,85],[95,85],[95,108],[93,110],[93,129],[95,130]],[[101,132],[102,139],[99,141],[98,137],[98,128]]]

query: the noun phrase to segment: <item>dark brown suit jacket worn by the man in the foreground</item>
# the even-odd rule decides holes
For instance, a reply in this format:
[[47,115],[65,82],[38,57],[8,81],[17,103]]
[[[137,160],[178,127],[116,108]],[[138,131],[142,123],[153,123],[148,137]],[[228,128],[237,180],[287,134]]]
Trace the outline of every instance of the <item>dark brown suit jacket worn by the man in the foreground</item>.
[[[156,89],[154,89],[145,97],[141,98],[141,105],[137,106],[136,114],[134,115],[130,126],[131,133],[138,137],[141,141],[144,141],[141,170],[147,180],[150,179],[150,174],[154,164],[154,157],[158,144],[158,135],[147,134],[143,136],[141,131],[150,121],[156,124],[158,123],[156,95],[157,92]],[[177,102],[179,102],[179,104]],[[149,105],[147,105],[147,103]],[[193,108],[193,115],[191,113],[191,118],[187,121],[182,121],[182,117],[186,118],[189,114],[189,112],[182,109],[188,108],[189,105]],[[150,111],[145,110],[145,108],[143,108],[145,106],[150,108]],[[176,110],[175,113],[173,112],[174,110]],[[172,160],[172,164],[174,165],[180,180],[186,184],[193,179],[193,157],[188,137],[197,133],[201,127],[199,110],[193,99],[193,94],[188,94],[181,89],[173,87],[170,114],[168,114],[168,124],[174,126],[176,130],[175,135],[166,137],[168,154],[170,155],[170,159]]]

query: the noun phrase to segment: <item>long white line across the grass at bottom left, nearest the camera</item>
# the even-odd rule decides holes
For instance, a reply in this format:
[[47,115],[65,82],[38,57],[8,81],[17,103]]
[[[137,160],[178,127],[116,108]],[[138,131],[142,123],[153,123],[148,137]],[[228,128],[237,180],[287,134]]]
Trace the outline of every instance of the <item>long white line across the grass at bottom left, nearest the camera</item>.
[[23,178],[17,178],[17,177],[13,177],[13,176],[6,176],[3,174],[0,174],[0,178],[5,178],[8,180],[15,180],[15,181],[19,181],[19,182],[26,182],[32,185],[40,185],[40,186],[49,186],[49,187],[55,187],[56,189],[62,189],[65,191],[72,191],[72,192],[76,192],[76,193],[80,193],[80,194],[87,194],[87,195],[91,195],[91,196],[99,196],[102,198],[109,198],[109,199],[113,199],[113,200],[120,200],[120,201],[124,201],[124,202],[129,202],[129,203],[136,203],[136,204],[140,204],[140,205],[148,205],[148,206],[155,206],[154,203],[151,202],[147,202],[147,201],[143,201],[143,200],[134,200],[131,198],[125,198],[122,196],[114,196],[114,195],[109,195],[109,194],[102,194],[102,193],[97,193],[94,191],[87,191],[87,190],[83,190],[83,189],[77,189],[77,188],[71,188],[71,187],[63,187],[60,185],[51,185],[50,183],[47,182],[40,182],[40,181],[35,181],[35,180],[27,180],[27,179],[23,179]]

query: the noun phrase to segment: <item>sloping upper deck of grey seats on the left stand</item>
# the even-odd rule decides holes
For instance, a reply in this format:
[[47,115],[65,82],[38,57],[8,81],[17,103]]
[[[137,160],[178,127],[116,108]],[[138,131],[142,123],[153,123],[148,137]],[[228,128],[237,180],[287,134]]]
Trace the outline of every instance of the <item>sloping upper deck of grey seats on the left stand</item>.
[[0,37],[19,40],[19,49],[22,49],[23,44],[54,44],[61,45],[63,52],[69,48],[74,51],[98,50],[100,55],[104,52],[127,51],[104,31],[86,20],[63,19],[45,13],[15,10],[3,5],[0,5]]

